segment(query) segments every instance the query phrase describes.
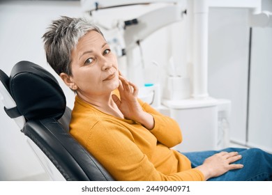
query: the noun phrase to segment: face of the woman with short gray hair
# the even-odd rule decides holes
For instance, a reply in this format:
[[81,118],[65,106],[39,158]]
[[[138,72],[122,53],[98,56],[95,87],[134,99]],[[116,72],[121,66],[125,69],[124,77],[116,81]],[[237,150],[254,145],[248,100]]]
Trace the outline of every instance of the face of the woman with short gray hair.
[[[119,86],[116,56],[100,33],[89,31],[72,52],[70,80],[77,95],[109,94]],[[74,89],[75,89],[74,88]]]

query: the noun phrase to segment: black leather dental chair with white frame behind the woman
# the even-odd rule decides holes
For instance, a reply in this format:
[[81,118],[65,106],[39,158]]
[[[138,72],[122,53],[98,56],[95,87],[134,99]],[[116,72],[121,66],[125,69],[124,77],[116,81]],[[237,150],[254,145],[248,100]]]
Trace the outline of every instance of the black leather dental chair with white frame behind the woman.
[[4,110],[20,127],[52,180],[114,180],[69,134],[71,110],[50,72],[20,61],[10,77],[0,70]]

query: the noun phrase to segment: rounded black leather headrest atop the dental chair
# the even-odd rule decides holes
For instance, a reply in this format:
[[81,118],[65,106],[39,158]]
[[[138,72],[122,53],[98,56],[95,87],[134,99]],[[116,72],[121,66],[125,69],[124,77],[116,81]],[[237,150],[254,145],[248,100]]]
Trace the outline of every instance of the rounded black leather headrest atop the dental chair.
[[35,63],[15,64],[9,88],[18,111],[28,120],[59,119],[66,109],[66,98],[56,78]]

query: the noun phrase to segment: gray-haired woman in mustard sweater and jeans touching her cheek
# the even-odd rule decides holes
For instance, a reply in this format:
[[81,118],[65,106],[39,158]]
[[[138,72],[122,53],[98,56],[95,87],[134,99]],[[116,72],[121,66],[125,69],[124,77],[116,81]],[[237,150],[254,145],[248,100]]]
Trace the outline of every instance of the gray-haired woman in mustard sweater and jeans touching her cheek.
[[170,149],[182,141],[179,125],[137,99],[89,21],[61,17],[43,38],[47,62],[76,93],[70,133],[116,180],[271,180],[272,155],[259,149]]

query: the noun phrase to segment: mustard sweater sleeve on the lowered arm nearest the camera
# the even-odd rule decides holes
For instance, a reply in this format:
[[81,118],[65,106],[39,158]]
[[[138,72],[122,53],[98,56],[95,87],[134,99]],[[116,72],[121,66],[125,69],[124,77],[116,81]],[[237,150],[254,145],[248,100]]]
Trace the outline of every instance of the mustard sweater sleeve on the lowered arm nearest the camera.
[[165,175],[156,170],[133,141],[125,127],[98,121],[86,139],[85,147],[116,180],[204,180],[197,169]]

